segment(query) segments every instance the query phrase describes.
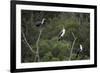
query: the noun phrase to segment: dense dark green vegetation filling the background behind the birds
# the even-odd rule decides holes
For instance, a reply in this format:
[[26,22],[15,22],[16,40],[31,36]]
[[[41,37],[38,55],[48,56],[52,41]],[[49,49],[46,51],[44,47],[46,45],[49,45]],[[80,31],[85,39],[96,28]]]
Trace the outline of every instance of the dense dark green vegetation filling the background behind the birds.
[[[43,27],[35,23],[46,18]],[[62,27],[66,29],[62,40],[58,41]],[[36,57],[36,42],[38,56]],[[64,60],[86,60],[90,58],[90,14],[75,12],[21,11],[21,62],[47,62]],[[76,57],[77,51],[83,51]]]

